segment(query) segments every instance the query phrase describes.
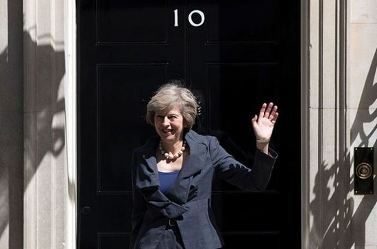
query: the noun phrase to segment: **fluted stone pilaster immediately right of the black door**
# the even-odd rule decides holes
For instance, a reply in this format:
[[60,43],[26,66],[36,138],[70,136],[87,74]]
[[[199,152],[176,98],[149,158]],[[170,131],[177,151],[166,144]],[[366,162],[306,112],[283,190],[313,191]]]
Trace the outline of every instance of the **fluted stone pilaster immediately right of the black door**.
[[348,2],[306,1],[303,248],[352,246]]

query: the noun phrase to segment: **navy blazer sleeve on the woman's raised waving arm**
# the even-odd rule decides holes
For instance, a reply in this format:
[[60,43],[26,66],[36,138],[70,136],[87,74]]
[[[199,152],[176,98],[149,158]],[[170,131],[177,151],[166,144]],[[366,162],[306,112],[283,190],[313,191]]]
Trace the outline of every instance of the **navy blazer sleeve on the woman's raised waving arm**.
[[271,148],[269,155],[256,150],[253,167],[247,168],[227,153],[216,137],[210,138],[209,150],[217,176],[232,185],[252,192],[265,190],[278,157]]

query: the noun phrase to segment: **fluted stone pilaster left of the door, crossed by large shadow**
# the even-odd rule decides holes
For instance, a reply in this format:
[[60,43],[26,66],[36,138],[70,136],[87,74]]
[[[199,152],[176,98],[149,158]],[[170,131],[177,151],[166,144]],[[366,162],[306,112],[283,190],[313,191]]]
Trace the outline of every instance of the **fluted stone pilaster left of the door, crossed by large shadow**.
[[24,0],[23,14],[23,248],[64,248],[64,0]]

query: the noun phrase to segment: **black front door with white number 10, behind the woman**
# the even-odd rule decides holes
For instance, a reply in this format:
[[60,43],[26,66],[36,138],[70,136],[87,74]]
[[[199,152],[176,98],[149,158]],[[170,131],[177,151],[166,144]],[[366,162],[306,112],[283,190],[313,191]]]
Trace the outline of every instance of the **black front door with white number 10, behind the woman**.
[[279,153],[267,190],[215,179],[226,248],[300,248],[300,1],[77,0],[79,248],[127,248],[132,150],[154,134],[152,92],[185,79],[199,96],[195,130],[243,163],[250,119],[274,101]]

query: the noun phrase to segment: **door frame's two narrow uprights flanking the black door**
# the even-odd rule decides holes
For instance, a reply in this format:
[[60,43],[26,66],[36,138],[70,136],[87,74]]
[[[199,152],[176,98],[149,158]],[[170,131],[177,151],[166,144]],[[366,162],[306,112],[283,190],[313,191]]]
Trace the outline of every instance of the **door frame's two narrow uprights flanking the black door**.
[[[66,53],[66,160],[67,160],[67,192],[66,192],[66,246],[69,248],[77,248],[78,239],[78,178],[77,158],[80,157],[77,143],[80,142],[80,134],[77,134],[77,119],[80,117],[77,107],[77,99],[80,99],[80,92],[77,91],[77,13],[76,1],[64,1],[64,51]],[[302,248],[307,248],[309,240],[309,181],[308,166],[309,164],[309,14],[310,5],[308,0],[301,1],[300,8],[300,40],[301,40],[301,224],[302,224]]]

